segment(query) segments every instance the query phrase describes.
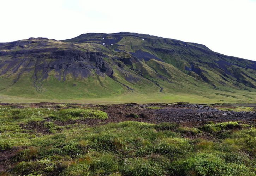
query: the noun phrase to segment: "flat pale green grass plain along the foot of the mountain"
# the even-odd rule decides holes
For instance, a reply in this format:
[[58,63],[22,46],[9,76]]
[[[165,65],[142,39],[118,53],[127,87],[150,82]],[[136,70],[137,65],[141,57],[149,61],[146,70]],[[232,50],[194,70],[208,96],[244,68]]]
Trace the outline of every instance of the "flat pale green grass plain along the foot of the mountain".
[[[221,92],[223,94],[223,92]],[[246,96],[244,96],[246,94]],[[230,95],[230,96],[228,96]],[[141,94],[136,92],[128,92],[124,95],[102,97],[102,98],[73,98],[73,99],[43,99],[43,98],[25,98],[20,96],[10,96],[0,94],[0,102],[4,103],[36,103],[36,102],[61,102],[61,103],[94,103],[94,104],[118,104],[118,103],[175,103],[175,102],[189,102],[189,103],[255,103],[256,93],[252,92],[248,95],[246,91],[236,93],[226,92],[226,96],[219,94],[206,93],[205,95],[194,95],[185,93],[163,94],[161,92],[152,94]],[[248,99],[248,97],[250,97]]]

